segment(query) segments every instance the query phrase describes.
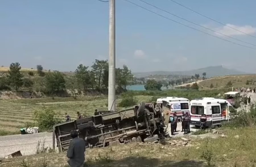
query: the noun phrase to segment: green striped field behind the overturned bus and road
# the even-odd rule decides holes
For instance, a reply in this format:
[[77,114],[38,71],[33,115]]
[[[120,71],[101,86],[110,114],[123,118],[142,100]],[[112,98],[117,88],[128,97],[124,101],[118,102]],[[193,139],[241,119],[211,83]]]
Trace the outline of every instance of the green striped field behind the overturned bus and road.
[[[151,96],[136,96],[138,102],[149,101]],[[117,104],[121,99],[117,100]],[[19,129],[24,127],[26,122],[33,122],[34,112],[42,108],[51,108],[64,120],[65,112],[71,119],[76,118],[79,111],[86,116],[94,114],[95,109],[106,110],[108,106],[107,99],[100,100],[70,100],[47,102],[44,99],[17,99],[0,100],[0,131],[19,133]],[[118,108],[118,107],[117,107]],[[118,108],[121,109],[121,108]]]

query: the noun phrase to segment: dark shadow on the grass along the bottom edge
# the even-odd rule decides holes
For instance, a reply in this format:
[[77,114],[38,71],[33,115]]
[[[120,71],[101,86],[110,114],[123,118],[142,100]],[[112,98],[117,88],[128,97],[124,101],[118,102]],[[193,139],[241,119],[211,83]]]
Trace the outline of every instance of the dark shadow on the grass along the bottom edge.
[[[157,156],[157,155],[156,155]],[[96,162],[88,162],[86,166],[96,167],[205,167],[206,164],[203,161],[194,160],[182,160],[182,161],[171,161],[171,160],[159,160],[157,158],[146,158],[146,157],[127,157],[121,160],[98,160]]]

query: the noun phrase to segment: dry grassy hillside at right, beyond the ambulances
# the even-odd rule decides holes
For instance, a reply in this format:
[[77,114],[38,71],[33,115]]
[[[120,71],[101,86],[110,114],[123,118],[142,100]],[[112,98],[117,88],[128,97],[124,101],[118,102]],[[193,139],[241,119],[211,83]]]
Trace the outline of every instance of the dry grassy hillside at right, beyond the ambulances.
[[[249,81],[249,85],[246,85],[246,81]],[[231,81],[235,88],[237,87],[256,87],[256,75],[237,75],[237,76],[223,76],[214,77],[199,83],[199,87],[203,89],[209,89],[212,84],[214,88],[226,87],[227,83]]]

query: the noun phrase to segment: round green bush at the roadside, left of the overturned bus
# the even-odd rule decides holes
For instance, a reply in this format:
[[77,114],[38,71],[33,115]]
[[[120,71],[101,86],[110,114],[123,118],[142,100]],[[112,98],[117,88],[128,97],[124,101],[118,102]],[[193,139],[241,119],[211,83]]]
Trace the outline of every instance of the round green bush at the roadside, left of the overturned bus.
[[52,130],[55,124],[61,123],[61,120],[57,118],[55,112],[49,108],[36,111],[34,120],[41,131]]

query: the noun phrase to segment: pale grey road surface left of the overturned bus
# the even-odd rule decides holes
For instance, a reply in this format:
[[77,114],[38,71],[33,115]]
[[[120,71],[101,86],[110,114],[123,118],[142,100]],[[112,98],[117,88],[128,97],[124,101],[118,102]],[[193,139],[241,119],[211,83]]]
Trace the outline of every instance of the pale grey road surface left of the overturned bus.
[[45,140],[45,147],[52,148],[52,133],[48,132],[0,136],[0,157],[5,157],[19,150],[22,155],[35,154],[36,146],[40,140]]

